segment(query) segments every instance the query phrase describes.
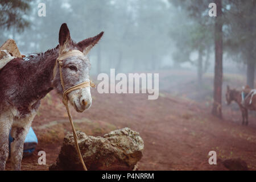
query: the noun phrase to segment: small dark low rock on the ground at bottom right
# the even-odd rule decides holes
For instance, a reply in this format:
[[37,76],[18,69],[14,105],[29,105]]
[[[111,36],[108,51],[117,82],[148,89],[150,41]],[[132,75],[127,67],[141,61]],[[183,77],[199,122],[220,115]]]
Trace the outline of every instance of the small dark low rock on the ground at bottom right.
[[230,171],[248,171],[248,167],[245,161],[238,159],[226,159],[222,164]]

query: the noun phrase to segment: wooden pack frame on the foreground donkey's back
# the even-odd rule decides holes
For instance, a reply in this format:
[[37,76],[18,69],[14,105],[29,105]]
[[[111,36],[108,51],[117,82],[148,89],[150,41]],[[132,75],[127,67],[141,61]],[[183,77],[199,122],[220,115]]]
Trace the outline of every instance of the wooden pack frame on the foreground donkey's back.
[[[20,59],[23,57],[13,39],[6,40],[6,42],[0,47],[0,50],[6,50],[11,56],[19,57]],[[2,59],[3,56],[5,56],[5,53],[0,51],[0,59]]]

